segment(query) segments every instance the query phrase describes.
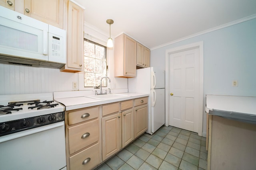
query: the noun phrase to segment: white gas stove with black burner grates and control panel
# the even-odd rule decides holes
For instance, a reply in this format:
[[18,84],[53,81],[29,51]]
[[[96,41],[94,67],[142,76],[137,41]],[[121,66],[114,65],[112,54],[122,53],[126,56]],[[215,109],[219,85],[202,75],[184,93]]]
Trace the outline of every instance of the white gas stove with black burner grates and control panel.
[[0,95],[1,167],[66,170],[64,127],[52,93]]

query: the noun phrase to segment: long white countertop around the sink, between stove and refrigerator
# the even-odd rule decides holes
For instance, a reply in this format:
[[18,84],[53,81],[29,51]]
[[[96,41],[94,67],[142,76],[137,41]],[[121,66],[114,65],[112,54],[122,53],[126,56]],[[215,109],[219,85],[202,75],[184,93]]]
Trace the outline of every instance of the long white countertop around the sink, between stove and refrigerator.
[[135,98],[149,96],[149,94],[140,94],[140,93],[120,93],[120,94],[125,94],[127,96],[123,96],[122,98],[111,99],[111,100],[96,100],[92,98],[87,98],[86,96],[54,98],[54,100],[63,104],[66,107],[66,110],[68,111],[73,109],[80,109],[84,107],[97,106],[102,104],[120,102],[124,100],[131,100]]

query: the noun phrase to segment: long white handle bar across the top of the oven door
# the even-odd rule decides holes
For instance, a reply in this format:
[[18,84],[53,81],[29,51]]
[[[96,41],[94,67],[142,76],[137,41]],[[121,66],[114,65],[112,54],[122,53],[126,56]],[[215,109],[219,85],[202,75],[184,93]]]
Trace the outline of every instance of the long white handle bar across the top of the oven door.
[[24,137],[24,136],[27,136],[27,135],[31,135],[33,133],[46,131],[48,129],[53,129],[53,128],[60,127],[60,126],[64,126],[64,121],[60,121],[58,123],[52,123],[50,125],[36,127],[36,128],[33,128],[33,129],[28,129],[26,131],[21,131],[21,132],[17,132],[17,133],[12,133],[10,135],[2,136],[2,137],[0,137],[0,143],[5,142],[5,141],[10,141],[12,139],[16,139],[16,138],[19,138],[19,137]]

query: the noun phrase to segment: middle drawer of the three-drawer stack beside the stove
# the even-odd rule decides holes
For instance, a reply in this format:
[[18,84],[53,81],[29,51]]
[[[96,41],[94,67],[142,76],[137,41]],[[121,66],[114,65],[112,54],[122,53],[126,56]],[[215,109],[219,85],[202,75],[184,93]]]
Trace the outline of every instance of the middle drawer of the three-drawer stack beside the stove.
[[68,128],[70,154],[99,140],[99,120]]

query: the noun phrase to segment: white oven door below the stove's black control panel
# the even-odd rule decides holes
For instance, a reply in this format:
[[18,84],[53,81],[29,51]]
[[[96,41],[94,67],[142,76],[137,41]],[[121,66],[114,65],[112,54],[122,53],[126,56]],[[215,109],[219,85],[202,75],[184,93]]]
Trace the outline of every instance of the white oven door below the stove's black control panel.
[[64,121],[0,137],[0,167],[3,170],[65,169]]

